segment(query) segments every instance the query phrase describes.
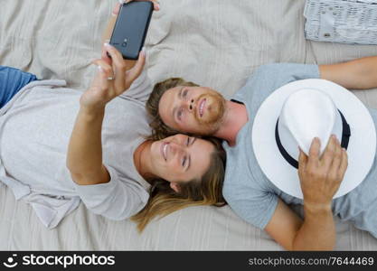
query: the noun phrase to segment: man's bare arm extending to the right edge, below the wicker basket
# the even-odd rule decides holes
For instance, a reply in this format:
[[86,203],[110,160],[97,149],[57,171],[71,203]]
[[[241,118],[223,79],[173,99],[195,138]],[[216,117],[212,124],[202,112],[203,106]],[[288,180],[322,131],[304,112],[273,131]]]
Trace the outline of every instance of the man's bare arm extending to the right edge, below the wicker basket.
[[327,79],[345,89],[377,88],[377,56],[331,65],[319,65],[321,79]]

